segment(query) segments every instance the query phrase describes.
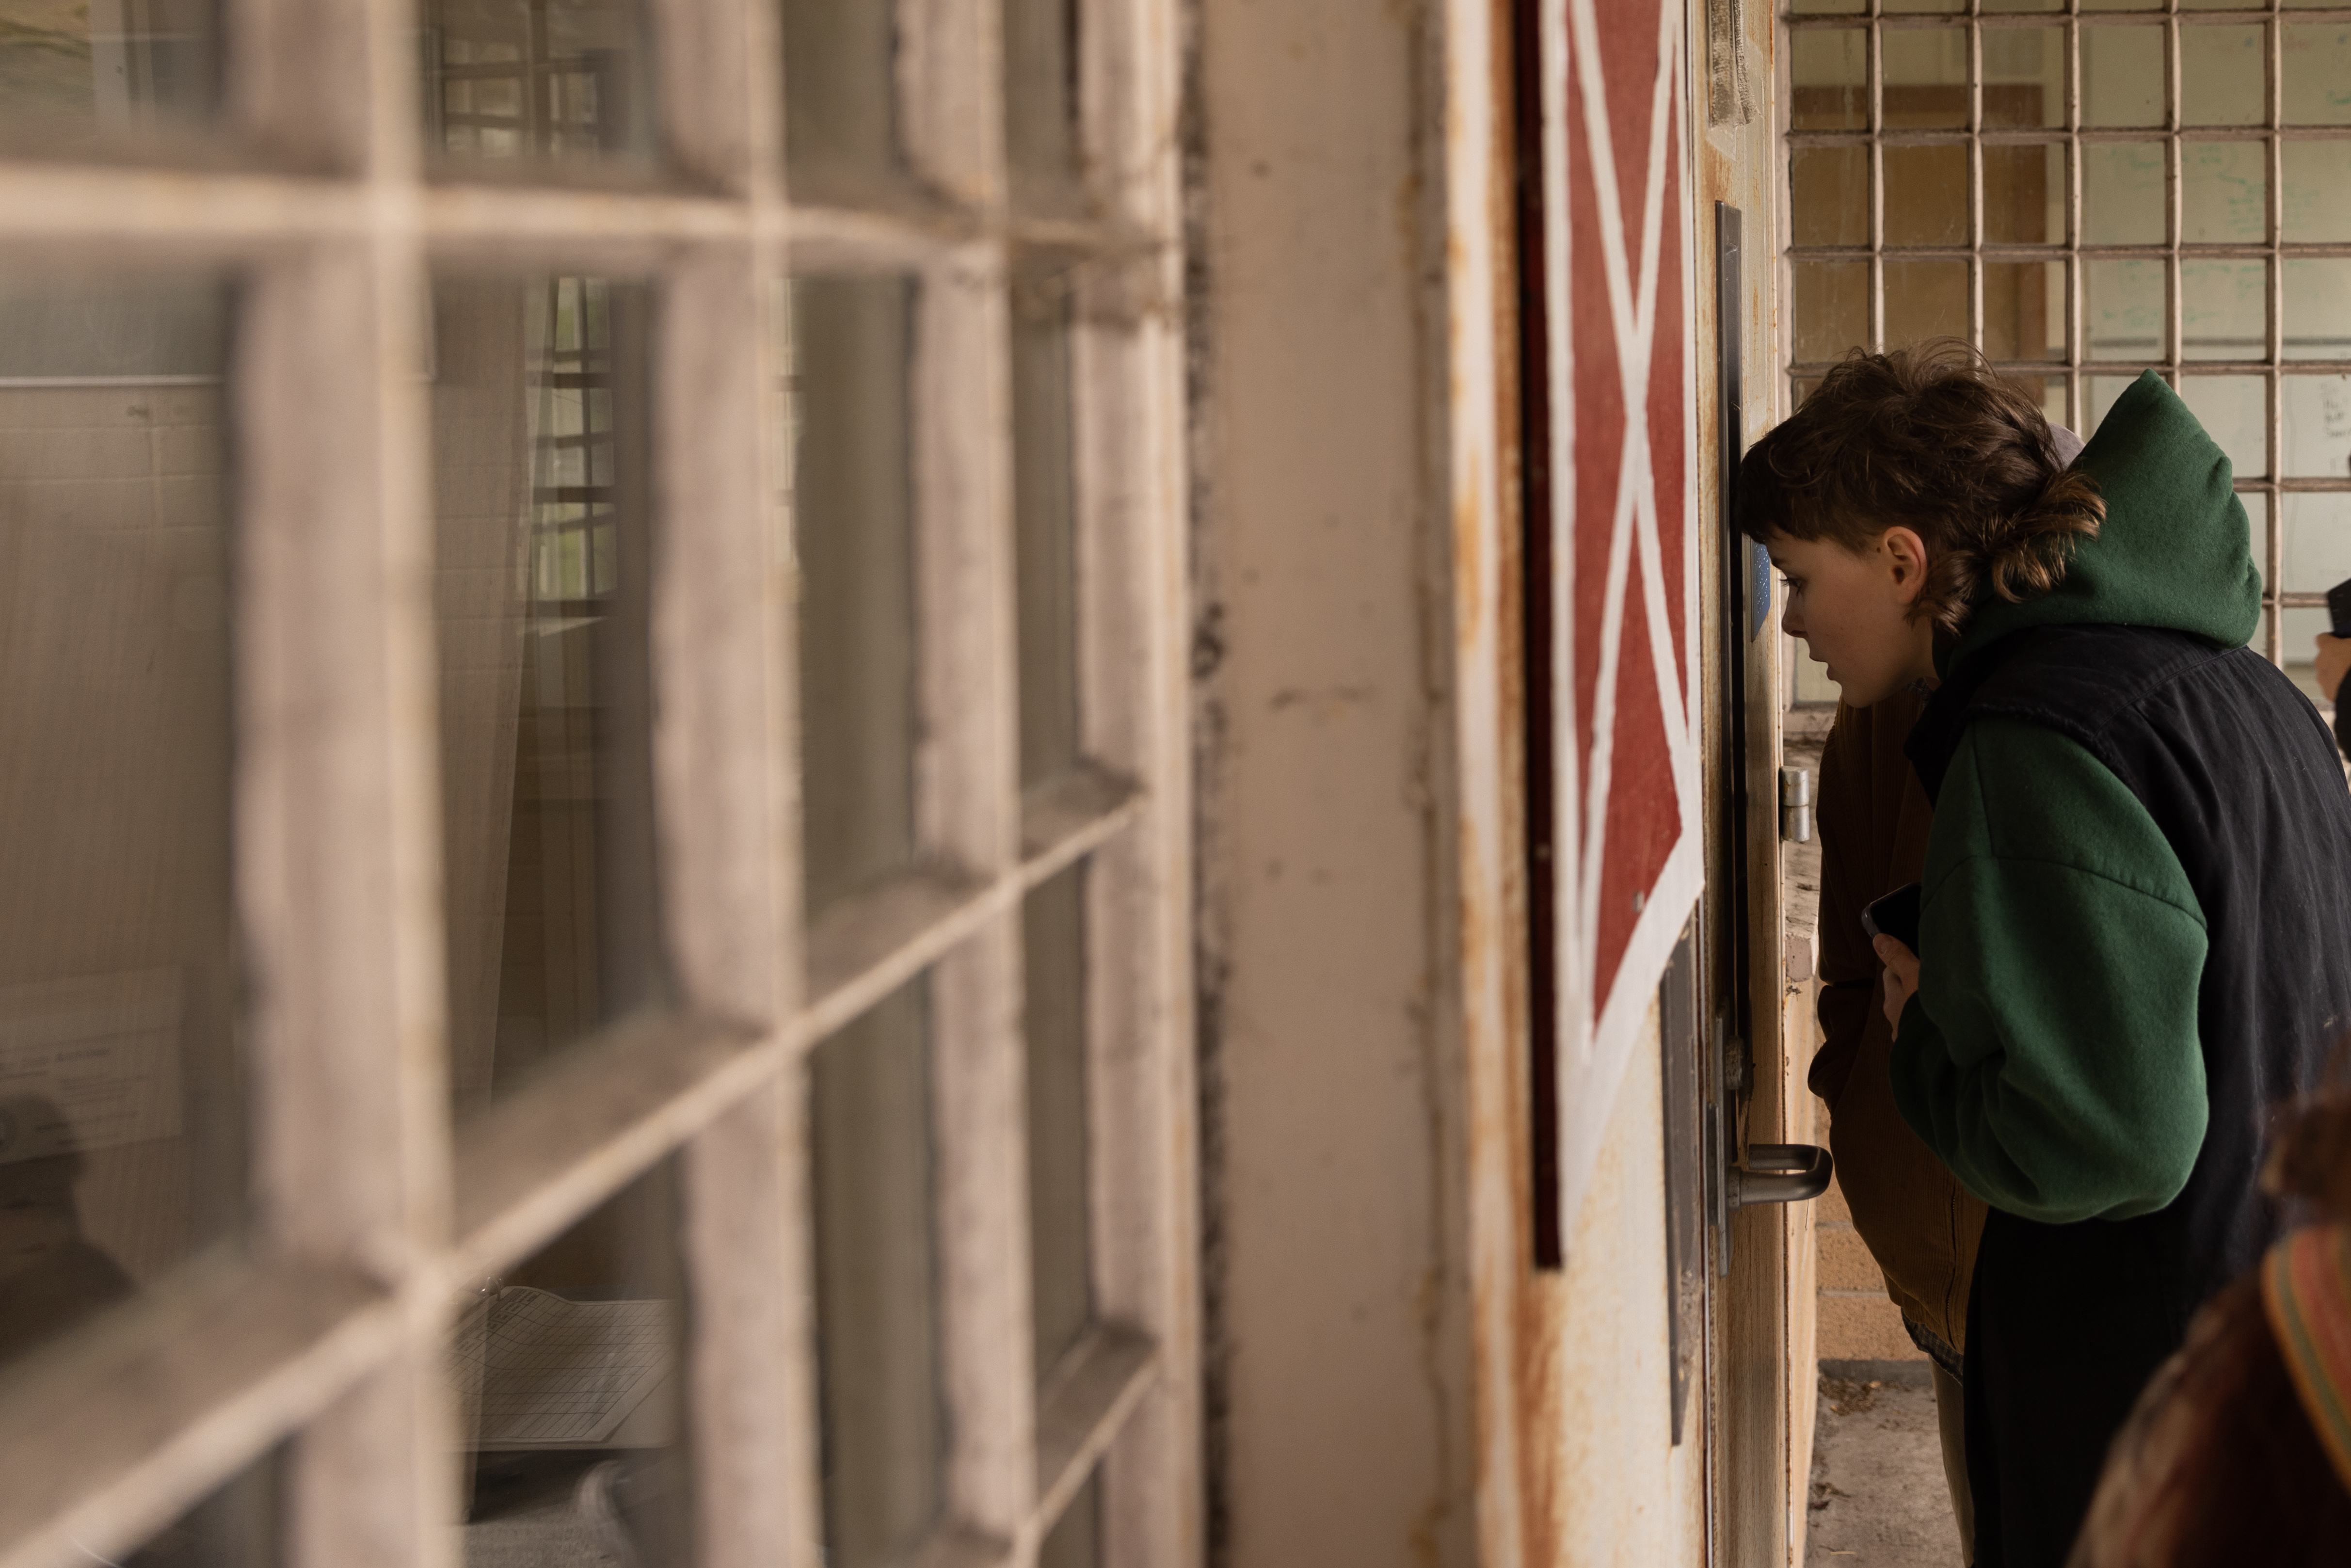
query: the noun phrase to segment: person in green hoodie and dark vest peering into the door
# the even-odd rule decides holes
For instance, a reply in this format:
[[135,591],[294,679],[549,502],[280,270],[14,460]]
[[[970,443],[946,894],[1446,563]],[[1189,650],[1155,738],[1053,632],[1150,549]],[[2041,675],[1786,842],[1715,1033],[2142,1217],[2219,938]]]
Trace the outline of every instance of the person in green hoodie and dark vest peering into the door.
[[1855,353],[1737,482],[1846,705],[1923,703],[1918,952],[1876,940],[1886,1091],[1989,1208],[1975,1563],[2055,1568],[2149,1373],[2271,1239],[2269,1107],[2351,1020],[2351,795],[2245,646],[2229,458],[2158,376],[2067,465],[1970,348]]

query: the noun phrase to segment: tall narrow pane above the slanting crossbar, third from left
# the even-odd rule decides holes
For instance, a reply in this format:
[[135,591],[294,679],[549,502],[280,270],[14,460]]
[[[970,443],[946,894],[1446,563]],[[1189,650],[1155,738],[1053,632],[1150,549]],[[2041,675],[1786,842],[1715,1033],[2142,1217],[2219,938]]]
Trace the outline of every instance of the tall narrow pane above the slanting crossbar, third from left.
[[915,858],[915,284],[804,277],[783,320],[802,870],[816,917]]

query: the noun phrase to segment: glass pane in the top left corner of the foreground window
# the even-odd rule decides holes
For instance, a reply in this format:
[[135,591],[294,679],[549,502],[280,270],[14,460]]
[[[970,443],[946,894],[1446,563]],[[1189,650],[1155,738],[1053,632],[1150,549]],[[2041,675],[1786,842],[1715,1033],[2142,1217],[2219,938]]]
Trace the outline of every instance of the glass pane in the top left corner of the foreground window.
[[219,103],[216,0],[0,0],[0,132],[12,141],[176,139]]

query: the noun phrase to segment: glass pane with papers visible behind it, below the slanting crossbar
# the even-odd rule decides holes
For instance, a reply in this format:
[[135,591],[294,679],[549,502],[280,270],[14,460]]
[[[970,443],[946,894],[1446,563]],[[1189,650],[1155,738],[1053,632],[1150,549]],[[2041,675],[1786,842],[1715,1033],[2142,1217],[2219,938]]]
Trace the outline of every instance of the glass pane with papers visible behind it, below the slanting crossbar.
[[461,1561],[691,1561],[677,1201],[672,1157],[458,1305]]

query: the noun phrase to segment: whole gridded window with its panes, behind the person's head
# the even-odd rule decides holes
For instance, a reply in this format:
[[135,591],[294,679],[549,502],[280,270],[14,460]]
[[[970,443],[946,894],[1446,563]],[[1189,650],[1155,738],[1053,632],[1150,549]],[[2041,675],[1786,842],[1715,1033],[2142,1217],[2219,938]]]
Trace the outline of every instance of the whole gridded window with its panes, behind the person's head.
[[1949,334],[2090,435],[2161,371],[2309,684],[2351,576],[2351,12],[1799,0],[1782,42],[1794,402],[1846,348]]

